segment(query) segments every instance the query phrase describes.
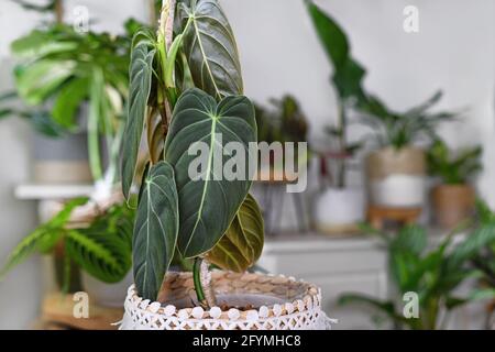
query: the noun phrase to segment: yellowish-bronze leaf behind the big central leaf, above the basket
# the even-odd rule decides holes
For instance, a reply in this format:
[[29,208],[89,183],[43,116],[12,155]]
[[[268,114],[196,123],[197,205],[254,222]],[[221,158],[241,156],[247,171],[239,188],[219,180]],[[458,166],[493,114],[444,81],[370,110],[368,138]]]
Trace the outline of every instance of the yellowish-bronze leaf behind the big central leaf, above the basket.
[[248,195],[229,230],[215,248],[208,260],[227,271],[245,272],[260,258],[263,250],[264,229],[260,207]]

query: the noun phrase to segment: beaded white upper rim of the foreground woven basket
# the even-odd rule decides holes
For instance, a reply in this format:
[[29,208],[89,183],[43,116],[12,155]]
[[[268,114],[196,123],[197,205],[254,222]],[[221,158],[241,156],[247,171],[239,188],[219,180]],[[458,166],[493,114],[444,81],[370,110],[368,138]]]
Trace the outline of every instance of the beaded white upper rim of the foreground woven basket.
[[[213,273],[238,274],[233,272],[215,271]],[[182,273],[175,273],[182,274]],[[274,304],[267,306],[261,306],[249,310],[240,310],[237,308],[230,308],[229,310],[222,310],[220,307],[211,307],[208,310],[196,306],[190,308],[177,308],[173,304],[162,304],[160,301],[151,301],[150,299],[143,299],[138,295],[135,285],[131,285],[128,289],[128,296],[125,298],[125,310],[142,311],[147,315],[165,316],[166,318],[175,318],[179,320],[240,320],[240,321],[256,321],[260,319],[273,319],[273,318],[286,318],[297,314],[306,314],[312,310],[321,310],[321,289],[314,284],[307,283],[302,279],[297,280],[293,276],[274,275],[265,273],[244,273],[242,275],[256,275],[258,277],[268,278],[272,282],[276,278],[285,279],[287,283],[299,283],[302,285],[305,293],[302,298],[287,300],[283,304]],[[282,285],[278,283],[278,285]]]

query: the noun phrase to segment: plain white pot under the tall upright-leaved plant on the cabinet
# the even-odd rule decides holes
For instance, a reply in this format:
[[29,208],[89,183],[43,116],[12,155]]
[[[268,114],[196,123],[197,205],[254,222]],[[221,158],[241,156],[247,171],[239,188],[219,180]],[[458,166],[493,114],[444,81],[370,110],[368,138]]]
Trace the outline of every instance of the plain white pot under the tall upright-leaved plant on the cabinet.
[[364,191],[359,187],[329,188],[317,199],[315,223],[322,232],[353,232],[364,221]]

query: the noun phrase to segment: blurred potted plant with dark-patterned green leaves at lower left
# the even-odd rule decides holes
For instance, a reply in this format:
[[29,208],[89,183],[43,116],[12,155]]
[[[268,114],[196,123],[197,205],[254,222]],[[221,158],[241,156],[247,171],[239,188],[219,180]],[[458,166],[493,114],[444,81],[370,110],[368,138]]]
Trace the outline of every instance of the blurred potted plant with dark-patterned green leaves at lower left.
[[[74,293],[85,286],[92,302],[120,306],[125,296],[122,296],[122,288],[116,293],[109,285],[129,275],[134,211],[125,205],[113,205],[92,217],[90,223],[81,224],[74,218],[74,211],[85,204],[86,198],[68,201],[55,217],[26,235],[7,258],[0,278],[35,252],[63,252],[63,261],[55,262],[62,293]],[[88,274],[84,283],[76,268]],[[92,280],[107,285],[95,285]]]

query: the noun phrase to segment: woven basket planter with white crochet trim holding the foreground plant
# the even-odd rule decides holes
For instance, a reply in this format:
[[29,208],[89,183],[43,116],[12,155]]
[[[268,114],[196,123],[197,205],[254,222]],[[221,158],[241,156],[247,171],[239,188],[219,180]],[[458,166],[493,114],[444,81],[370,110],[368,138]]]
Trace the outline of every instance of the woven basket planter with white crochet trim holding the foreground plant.
[[[222,310],[212,307],[183,308],[195,300],[190,273],[169,273],[160,301],[128,290],[121,330],[329,330],[331,319],[321,310],[321,293],[316,286],[293,277],[265,274],[212,273],[219,306],[228,297],[249,297],[256,309]],[[170,294],[172,293],[172,294]],[[166,301],[162,304],[161,301]],[[258,305],[260,302],[271,302]]]

